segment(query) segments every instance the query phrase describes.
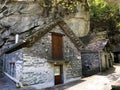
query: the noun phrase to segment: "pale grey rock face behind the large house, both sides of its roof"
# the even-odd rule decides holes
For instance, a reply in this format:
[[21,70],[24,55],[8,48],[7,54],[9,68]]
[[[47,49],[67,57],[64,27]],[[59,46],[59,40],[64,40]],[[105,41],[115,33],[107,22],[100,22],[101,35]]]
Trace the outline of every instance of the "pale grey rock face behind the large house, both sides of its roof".
[[[26,38],[36,27],[47,23],[49,17],[42,16],[43,8],[36,2],[11,2],[2,8],[0,13],[0,46],[15,42],[15,34],[20,39]],[[89,32],[89,12],[82,6],[77,6],[77,11],[72,16],[64,17],[64,20],[78,37]],[[68,18],[69,17],[69,18]]]

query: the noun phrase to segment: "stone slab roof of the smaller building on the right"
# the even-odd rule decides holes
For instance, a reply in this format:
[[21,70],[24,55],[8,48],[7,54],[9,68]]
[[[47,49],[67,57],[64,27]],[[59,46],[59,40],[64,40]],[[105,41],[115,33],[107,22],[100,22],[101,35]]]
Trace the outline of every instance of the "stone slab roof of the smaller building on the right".
[[80,38],[85,43],[85,48],[82,52],[100,52],[108,43],[107,32],[90,32],[86,37]]

